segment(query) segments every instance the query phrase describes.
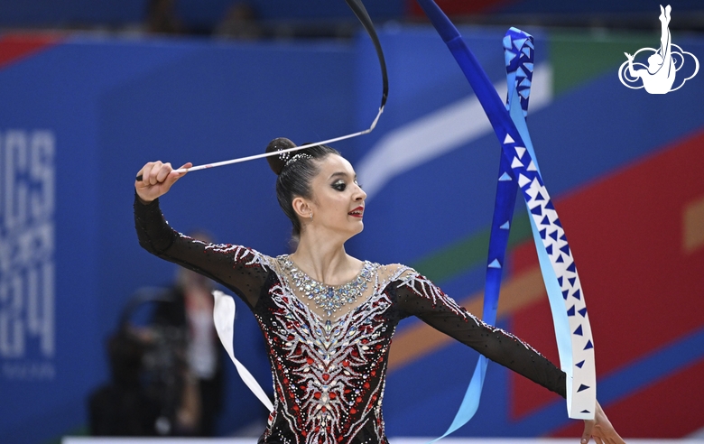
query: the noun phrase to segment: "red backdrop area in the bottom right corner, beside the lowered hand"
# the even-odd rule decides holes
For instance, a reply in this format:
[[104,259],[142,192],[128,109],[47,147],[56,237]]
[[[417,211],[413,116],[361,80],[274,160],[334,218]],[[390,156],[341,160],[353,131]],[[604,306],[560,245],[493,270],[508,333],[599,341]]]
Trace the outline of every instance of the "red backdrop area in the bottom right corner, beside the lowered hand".
[[[683,438],[704,427],[704,360],[682,368],[605,407],[608,419],[624,438]],[[584,431],[582,421],[550,434],[574,438]]]

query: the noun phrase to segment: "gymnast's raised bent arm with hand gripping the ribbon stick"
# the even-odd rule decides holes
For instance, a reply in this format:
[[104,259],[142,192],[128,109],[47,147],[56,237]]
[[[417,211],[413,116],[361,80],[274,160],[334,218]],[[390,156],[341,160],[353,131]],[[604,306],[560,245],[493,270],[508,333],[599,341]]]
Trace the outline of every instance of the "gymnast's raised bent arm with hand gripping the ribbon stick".
[[162,216],[159,197],[185,173],[173,172],[171,164],[162,162],[149,162],[140,173],[142,180],[134,183],[139,244],[149,253],[222,283],[254,308],[269,273],[267,257],[245,246],[207,244],[173,230]]

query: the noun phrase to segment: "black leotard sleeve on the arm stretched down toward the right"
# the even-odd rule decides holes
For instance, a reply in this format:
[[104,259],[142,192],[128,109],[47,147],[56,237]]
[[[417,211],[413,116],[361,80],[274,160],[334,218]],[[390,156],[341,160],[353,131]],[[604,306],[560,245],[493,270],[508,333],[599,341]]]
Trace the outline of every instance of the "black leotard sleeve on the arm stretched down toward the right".
[[537,350],[501,328],[490,326],[460,307],[429,279],[407,270],[391,282],[390,291],[402,317],[416,316],[446,335],[474,348],[492,361],[552,392],[566,394],[566,375]]

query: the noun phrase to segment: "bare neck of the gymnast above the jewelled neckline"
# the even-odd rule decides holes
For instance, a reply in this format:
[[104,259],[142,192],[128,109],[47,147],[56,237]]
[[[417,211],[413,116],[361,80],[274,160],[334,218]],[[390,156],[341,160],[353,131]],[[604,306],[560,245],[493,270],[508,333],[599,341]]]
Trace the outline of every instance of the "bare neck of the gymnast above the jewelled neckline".
[[301,233],[301,241],[292,261],[318,282],[339,285],[350,281],[361,268],[361,261],[345,252],[345,241],[315,234]]

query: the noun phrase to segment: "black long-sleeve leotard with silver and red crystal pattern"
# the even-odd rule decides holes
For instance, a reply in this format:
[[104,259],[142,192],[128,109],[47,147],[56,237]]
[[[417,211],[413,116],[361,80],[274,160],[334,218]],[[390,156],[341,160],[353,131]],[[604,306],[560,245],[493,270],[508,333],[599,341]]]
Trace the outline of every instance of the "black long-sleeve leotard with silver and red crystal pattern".
[[168,226],[158,199],[146,205],[135,199],[134,222],[147,251],[220,282],[254,312],[275,392],[262,443],[387,443],[381,404],[389,347],[398,322],[409,316],[565,397],[559,368],[411,268],[366,262],[374,277],[366,299],[326,318],[296,294],[287,256],[183,236]]

